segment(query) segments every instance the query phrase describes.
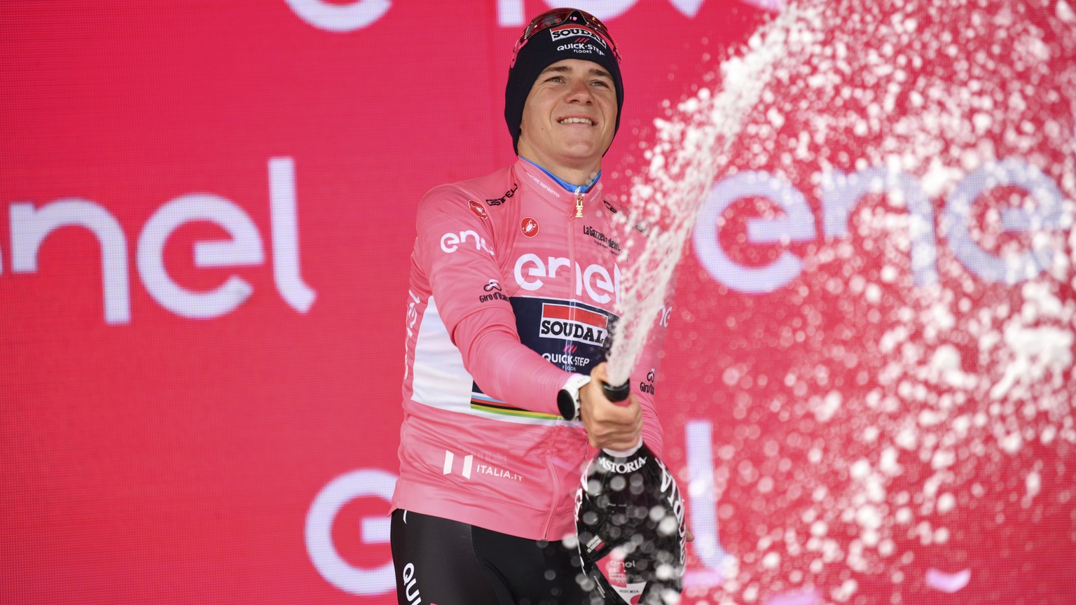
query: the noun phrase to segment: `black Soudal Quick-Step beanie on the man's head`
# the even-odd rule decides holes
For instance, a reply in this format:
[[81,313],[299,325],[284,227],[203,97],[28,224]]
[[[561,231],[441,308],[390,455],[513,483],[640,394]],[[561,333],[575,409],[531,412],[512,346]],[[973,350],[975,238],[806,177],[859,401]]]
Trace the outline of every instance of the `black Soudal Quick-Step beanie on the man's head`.
[[612,75],[617,87],[617,124],[613,135],[620,128],[620,113],[624,105],[624,84],[620,76],[620,61],[606,40],[587,27],[582,18],[536,31],[515,55],[515,62],[508,70],[505,86],[505,122],[512,135],[512,149],[519,153],[520,122],[523,105],[538,74],[547,67],[563,59],[583,59],[604,67]]

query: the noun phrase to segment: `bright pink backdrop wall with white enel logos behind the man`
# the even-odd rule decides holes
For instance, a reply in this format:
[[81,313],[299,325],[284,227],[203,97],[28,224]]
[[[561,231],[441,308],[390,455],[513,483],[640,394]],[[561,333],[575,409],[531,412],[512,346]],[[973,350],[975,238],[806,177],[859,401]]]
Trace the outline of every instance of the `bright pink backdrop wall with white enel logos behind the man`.
[[[613,191],[779,4],[579,2],[624,57]],[[810,4],[680,270],[686,602],[1061,602],[1072,10]],[[511,159],[544,8],[0,6],[0,601],[395,602],[414,208]]]

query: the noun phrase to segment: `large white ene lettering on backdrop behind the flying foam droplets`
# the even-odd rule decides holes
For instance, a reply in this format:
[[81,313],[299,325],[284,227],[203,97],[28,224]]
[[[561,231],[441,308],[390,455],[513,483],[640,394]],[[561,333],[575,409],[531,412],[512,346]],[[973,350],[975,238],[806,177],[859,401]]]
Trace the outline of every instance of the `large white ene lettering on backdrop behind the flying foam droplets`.
[[[934,230],[934,207],[920,179],[888,168],[865,168],[859,172],[825,171],[816,174],[821,183],[822,228],[826,240],[850,237],[849,216],[860,200],[869,194],[894,192],[905,200],[909,214],[909,254],[916,285],[937,283],[937,243],[944,237],[953,256],[971,272],[991,283],[1016,284],[1030,280],[1054,264],[1062,252],[1047,239],[1033,239],[1031,250],[1001,256],[983,250],[972,237],[975,203],[997,186],[1016,186],[1036,201],[1034,208],[1005,208],[1001,211],[1004,233],[1063,230],[1072,227],[1064,213],[1064,196],[1042,170],[1018,158],[987,164],[965,175],[946,196],[938,217],[939,235]],[[738,292],[766,294],[783,287],[804,269],[803,261],[789,251],[761,267],[736,263],[719,240],[721,215],[734,201],[745,197],[764,197],[777,205],[782,214],[771,219],[749,219],[750,243],[816,241],[819,229],[803,192],[792,183],[765,171],[739,172],[717,182],[703,202],[694,229],[695,256],[710,276]]]

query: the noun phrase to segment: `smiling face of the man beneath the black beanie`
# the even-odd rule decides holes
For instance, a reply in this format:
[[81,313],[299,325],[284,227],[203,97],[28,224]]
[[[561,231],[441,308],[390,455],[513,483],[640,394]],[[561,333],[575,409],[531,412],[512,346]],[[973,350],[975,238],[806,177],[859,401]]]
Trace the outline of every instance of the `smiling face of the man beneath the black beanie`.
[[600,168],[615,127],[617,90],[609,72],[593,61],[560,60],[530,87],[519,152],[565,181],[583,184]]

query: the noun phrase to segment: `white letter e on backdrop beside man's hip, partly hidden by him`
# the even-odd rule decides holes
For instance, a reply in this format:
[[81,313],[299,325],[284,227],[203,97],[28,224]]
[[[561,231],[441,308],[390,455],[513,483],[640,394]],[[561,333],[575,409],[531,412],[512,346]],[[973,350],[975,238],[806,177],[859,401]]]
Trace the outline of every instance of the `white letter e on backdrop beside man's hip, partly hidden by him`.
[[[355,567],[337,552],[332,544],[332,523],[340,509],[355,498],[378,496],[392,502],[396,476],[377,468],[360,468],[329,481],[310,505],[307,512],[307,554],[317,573],[330,585],[350,594],[369,596],[396,587],[393,562],[373,568]],[[386,544],[388,517],[366,517],[362,521],[365,544]]]

